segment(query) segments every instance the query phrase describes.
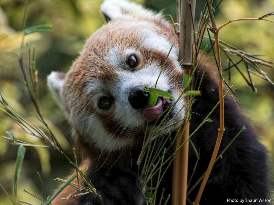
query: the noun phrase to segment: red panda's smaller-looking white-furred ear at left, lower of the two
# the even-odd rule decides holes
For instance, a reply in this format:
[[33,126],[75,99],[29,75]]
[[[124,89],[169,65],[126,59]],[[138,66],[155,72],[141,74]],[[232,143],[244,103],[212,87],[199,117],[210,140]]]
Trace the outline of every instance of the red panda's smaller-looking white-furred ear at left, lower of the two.
[[64,111],[65,111],[65,108],[64,108],[65,102],[62,96],[62,89],[63,89],[65,77],[66,77],[65,73],[52,71],[51,74],[48,76],[48,82],[47,82],[47,85],[51,93],[53,94],[54,99]]

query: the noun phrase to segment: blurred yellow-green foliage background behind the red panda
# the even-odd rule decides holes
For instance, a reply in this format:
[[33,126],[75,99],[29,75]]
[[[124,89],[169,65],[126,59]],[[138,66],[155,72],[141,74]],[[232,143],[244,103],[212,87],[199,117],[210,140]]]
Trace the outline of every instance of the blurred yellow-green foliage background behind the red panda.
[[[164,14],[171,14],[176,19],[175,0],[139,0],[136,1],[156,11],[164,9]],[[28,7],[27,26],[36,24],[53,24],[57,28],[46,33],[35,33],[27,36],[26,42],[37,47],[37,69],[39,70],[39,98],[42,114],[49,126],[56,133],[66,150],[70,150],[72,139],[70,128],[61,110],[53,101],[46,86],[47,75],[54,70],[67,72],[72,61],[76,59],[84,42],[95,30],[104,24],[100,13],[102,0],[31,0]],[[196,21],[204,7],[203,0],[197,0]],[[19,53],[22,38],[24,2],[21,0],[0,0],[0,53]],[[229,19],[259,17],[274,11],[273,0],[226,0],[215,12],[217,25]],[[273,19],[273,17],[269,17]],[[197,22],[196,22],[197,23]],[[234,22],[224,27],[219,38],[233,46],[250,53],[265,54],[263,58],[274,61],[274,24],[265,21]],[[208,44],[208,41],[203,43]],[[223,56],[222,65],[227,67]],[[209,58],[213,61],[211,53]],[[236,61],[237,57],[235,57]],[[214,61],[213,61],[214,62]],[[11,56],[0,55],[0,65],[20,73],[17,61]],[[243,72],[245,68],[240,65]],[[262,67],[274,80],[274,70]],[[272,183],[274,182],[274,87],[267,81],[253,76],[258,93],[254,93],[243,78],[231,70],[234,90],[239,95],[241,109],[252,120],[261,142],[269,150],[269,164]],[[224,74],[227,76],[227,73]],[[9,105],[25,117],[37,122],[35,113],[26,89],[9,73],[0,70],[0,90]],[[37,122],[39,124],[39,122]],[[7,136],[5,131],[12,132],[18,139],[29,142],[38,140],[23,134],[18,126],[3,112],[0,112],[0,136]],[[8,145],[0,139],[0,183],[12,194],[13,175],[17,146]],[[70,152],[70,151],[69,151]],[[36,172],[43,177],[48,192],[60,186],[54,178],[64,178],[71,173],[71,166],[57,151],[45,148],[27,147],[25,160],[18,184],[18,198],[33,204],[39,201],[23,192],[23,188],[46,198]],[[274,201],[274,198],[273,198]],[[0,189],[0,205],[11,204],[2,189]],[[20,202],[19,202],[20,204]]]

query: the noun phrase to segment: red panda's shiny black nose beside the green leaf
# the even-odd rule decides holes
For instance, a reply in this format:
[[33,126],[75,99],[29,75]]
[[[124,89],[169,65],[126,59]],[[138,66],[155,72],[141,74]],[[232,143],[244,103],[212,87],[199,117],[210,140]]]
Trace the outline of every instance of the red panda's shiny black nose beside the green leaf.
[[143,86],[136,86],[131,89],[128,95],[128,102],[134,109],[139,109],[148,104],[150,93],[144,92]]

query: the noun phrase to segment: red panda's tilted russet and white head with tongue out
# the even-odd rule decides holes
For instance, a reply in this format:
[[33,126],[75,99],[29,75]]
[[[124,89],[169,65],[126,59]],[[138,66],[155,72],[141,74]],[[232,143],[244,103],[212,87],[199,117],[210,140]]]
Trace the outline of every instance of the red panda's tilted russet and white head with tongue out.
[[[121,1],[104,4],[117,2]],[[104,4],[102,11],[107,15]],[[115,151],[142,142],[147,121],[148,131],[155,129],[155,120],[174,103],[159,97],[156,106],[147,108],[149,94],[144,92],[144,87],[155,87],[172,44],[156,88],[175,100],[182,91],[177,36],[161,15],[146,12],[142,17],[121,14],[112,18],[86,41],[66,76],[56,72],[49,76],[49,87],[74,130],[100,150]],[[111,18],[111,13],[107,16]],[[180,99],[158,129],[184,118],[182,109],[171,120],[183,106],[184,99]]]

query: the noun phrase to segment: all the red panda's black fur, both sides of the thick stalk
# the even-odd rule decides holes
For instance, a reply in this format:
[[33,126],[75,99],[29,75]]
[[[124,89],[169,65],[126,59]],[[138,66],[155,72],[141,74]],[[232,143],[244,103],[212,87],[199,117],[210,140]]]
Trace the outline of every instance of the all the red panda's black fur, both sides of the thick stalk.
[[[202,75],[202,70],[198,76],[198,82]],[[211,77],[211,72],[206,72],[202,86],[202,95],[197,97],[197,101],[193,104],[191,132],[202,122],[209,111],[219,101],[217,81]],[[206,170],[214,145],[217,139],[217,130],[219,128],[219,107],[211,114],[210,118],[213,122],[206,122],[200,130],[192,137],[196,147],[200,148],[200,160],[194,173],[192,183]],[[231,97],[225,97],[225,132],[220,146],[219,153],[231,142],[236,134],[241,130],[242,126],[246,130],[233,142],[229,149],[223,154],[213,167],[213,171],[209,177],[204,193],[202,195],[200,205],[221,205],[221,204],[252,204],[252,205],[268,205],[268,203],[228,203],[227,198],[231,199],[269,199],[268,187],[268,168],[266,150],[257,139],[249,120],[242,114]],[[136,160],[138,158],[140,148],[132,150],[132,165],[123,168],[102,167],[95,173],[90,171],[89,178],[94,186],[101,194],[105,205],[134,205],[142,204],[143,194],[137,186],[137,167]],[[129,153],[126,153],[129,154]],[[189,158],[189,176],[192,173],[196,156],[192,154],[190,147]],[[171,193],[172,185],[172,166],[168,169],[159,190],[166,188],[165,197]],[[194,189],[188,198],[194,201],[198,188]],[[160,194],[158,194],[160,195]],[[83,195],[79,204],[97,205],[100,201],[93,194]],[[144,202],[143,202],[144,204]],[[171,200],[169,203],[171,204]]]

